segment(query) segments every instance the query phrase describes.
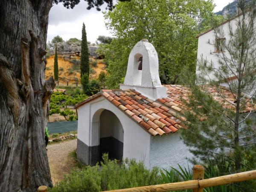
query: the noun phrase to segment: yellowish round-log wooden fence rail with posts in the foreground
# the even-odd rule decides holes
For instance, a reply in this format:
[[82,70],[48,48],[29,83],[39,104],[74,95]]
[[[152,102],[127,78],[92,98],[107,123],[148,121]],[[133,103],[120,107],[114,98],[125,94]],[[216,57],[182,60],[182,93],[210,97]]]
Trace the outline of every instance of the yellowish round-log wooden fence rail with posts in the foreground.
[[[203,192],[204,188],[207,187],[226,185],[229,183],[236,183],[253,179],[256,179],[256,170],[204,179],[204,167],[195,165],[193,167],[193,180],[177,183],[165,183],[160,185],[141,186],[129,189],[117,189],[108,192],[168,192],[184,189],[193,189],[193,192]],[[40,186],[39,188],[38,192],[47,192],[46,186]]]

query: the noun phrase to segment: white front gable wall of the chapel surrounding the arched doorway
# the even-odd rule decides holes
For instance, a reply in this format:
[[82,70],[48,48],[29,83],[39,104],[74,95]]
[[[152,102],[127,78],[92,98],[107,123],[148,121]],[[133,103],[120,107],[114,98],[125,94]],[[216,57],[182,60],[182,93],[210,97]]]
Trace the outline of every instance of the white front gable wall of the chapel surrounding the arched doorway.
[[99,119],[104,109],[114,113],[122,124],[124,130],[123,157],[136,159],[137,161],[142,160],[145,166],[149,168],[150,134],[103,97],[79,107],[78,159],[87,165],[95,164],[99,160],[94,157],[99,154]]

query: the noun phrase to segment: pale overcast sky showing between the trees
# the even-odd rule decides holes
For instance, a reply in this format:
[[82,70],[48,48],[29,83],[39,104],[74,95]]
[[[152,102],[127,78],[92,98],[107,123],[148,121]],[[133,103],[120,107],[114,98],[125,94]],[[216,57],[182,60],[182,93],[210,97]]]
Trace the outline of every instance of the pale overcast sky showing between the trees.
[[[216,5],[214,12],[218,12],[233,0],[213,0],[213,2]],[[51,41],[56,35],[60,35],[65,41],[70,38],[80,39],[83,22],[86,27],[87,41],[95,43],[99,35],[111,36],[105,27],[102,12],[86,8],[87,2],[83,0],[74,9],[66,9],[62,3],[54,4],[49,13],[47,41]],[[104,7],[102,10],[105,10]]]

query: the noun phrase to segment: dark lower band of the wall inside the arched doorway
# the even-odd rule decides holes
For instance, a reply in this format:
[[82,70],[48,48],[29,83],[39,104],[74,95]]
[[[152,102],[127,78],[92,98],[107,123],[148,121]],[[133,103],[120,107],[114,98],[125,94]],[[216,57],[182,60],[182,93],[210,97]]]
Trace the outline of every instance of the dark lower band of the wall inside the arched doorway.
[[102,154],[108,153],[108,158],[113,160],[122,160],[124,144],[114,137],[100,138],[99,158],[102,160]]

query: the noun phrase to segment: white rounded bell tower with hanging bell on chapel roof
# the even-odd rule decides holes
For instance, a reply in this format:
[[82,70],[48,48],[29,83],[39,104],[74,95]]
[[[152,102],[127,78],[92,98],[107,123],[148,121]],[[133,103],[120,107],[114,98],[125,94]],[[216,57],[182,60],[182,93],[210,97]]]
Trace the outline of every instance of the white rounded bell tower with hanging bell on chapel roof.
[[153,100],[166,97],[166,87],[159,78],[157,52],[148,40],[139,41],[131,50],[120,89],[135,89]]

